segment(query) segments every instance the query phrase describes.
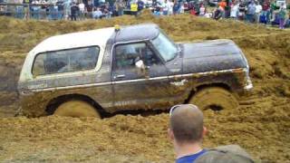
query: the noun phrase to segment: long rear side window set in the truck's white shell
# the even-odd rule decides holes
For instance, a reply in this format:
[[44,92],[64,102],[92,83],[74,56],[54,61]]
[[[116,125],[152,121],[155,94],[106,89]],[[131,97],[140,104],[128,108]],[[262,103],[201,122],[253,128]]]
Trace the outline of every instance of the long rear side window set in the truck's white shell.
[[40,53],[34,60],[33,74],[37,76],[93,69],[98,62],[99,51],[94,46]]

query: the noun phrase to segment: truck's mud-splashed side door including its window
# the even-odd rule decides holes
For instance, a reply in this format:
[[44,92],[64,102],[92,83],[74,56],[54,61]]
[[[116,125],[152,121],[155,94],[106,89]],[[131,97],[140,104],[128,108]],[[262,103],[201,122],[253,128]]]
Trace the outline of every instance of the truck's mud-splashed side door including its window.
[[[168,97],[168,70],[145,42],[113,46],[111,81],[118,110],[161,109]],[[136,62],[142,61],[142,72]],[[167,105],[168,106],[168,105]]]

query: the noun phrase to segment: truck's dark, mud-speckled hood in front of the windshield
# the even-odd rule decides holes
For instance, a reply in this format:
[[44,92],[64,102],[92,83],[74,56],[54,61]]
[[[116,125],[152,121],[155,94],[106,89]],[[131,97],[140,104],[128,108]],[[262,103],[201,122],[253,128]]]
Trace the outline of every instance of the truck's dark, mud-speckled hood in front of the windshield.
[[182,43],[180,46],[184,73],[213,72],[248,67],[245,55],[231,40]]

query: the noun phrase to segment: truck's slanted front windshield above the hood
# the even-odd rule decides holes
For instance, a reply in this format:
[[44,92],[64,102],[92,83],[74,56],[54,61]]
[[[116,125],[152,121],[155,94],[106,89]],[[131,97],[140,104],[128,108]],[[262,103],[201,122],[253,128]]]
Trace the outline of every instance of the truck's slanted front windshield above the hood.
[[158,37],[152,40],[153,45],[159,51],[161,57],[168,62],[175,58],[179,49],[175,43],[172,43],[171,40],[165,35],[160,32]]

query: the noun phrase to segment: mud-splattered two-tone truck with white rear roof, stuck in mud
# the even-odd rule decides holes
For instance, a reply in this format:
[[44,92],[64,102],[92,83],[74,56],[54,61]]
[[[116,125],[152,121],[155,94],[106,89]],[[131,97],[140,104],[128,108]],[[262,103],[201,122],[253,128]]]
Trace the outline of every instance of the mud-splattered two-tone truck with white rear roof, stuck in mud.
[[174,43],[156,24],[50,37],[27,54],[18,83],[29,117],[102,117],[179,103],[235,109],[252,87],[232,41]]

